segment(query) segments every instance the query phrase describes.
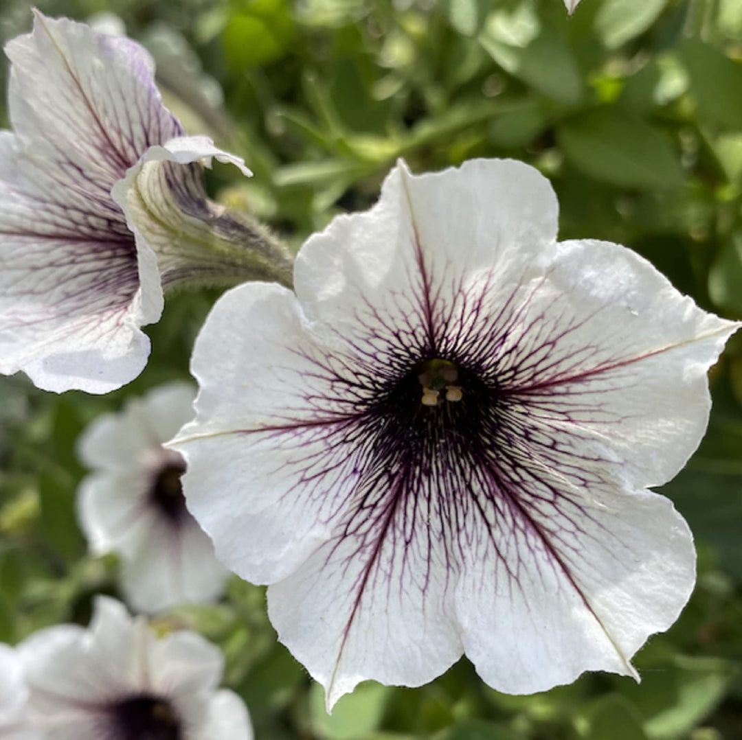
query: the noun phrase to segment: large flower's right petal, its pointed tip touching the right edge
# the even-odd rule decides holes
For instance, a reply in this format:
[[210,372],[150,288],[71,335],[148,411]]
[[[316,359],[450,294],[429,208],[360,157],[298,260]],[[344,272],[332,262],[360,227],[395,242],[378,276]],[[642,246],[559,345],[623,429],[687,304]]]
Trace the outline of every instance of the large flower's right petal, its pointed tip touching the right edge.
[[493,348],[516,423],[563,440],[574,459],[617,461],[629,487],[677,474],[708,423],[706,371],[739,324],[701,311],[634,252],[596,241],[560,243],[517,316]]

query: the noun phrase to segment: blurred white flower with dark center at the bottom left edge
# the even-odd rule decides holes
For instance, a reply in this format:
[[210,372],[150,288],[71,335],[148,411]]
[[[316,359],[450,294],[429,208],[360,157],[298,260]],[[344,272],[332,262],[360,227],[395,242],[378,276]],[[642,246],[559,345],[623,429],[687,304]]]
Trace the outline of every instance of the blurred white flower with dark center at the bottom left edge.
[[223,655],[195,632],[158,638],[99,596],[90,627],[61,624],[18,646],[42,740],[251,740],[243,701],[218,690]]

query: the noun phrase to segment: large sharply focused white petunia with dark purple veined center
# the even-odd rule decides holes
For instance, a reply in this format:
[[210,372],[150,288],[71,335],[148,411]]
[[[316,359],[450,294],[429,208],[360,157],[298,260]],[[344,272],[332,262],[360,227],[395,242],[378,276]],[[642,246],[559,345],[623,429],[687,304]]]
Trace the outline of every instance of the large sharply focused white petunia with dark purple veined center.
[[329,706],[462,653],[510,693],[636,675],[689,598],[691,534],[647,486],[699,443],[737,325],[557,242],[557,211],[520,162],[403,162],[303,245],[296,295],[234,288],[197,339],[188,508]]

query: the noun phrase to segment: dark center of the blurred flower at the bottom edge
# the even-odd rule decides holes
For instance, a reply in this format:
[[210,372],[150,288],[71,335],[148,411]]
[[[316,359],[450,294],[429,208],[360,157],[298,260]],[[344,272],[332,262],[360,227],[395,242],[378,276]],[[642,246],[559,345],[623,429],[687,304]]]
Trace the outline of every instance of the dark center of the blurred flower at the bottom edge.
[[115,740],[182,740],[180,718],[168,699],[151,694],[130,696],[111,707]]

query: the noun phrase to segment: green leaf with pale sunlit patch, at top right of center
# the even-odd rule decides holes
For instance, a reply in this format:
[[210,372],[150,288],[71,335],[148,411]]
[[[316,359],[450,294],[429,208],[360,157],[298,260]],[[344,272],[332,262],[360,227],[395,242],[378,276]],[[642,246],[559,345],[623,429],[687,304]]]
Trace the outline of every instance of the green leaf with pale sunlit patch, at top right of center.
[[493,13],[479,43],[506,72],[551,99],[578,105],[582,73],[565,36],[558,28],[541,28],[525,16],[517,23],[510,21],[511,16]]

